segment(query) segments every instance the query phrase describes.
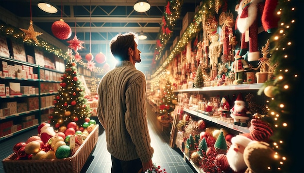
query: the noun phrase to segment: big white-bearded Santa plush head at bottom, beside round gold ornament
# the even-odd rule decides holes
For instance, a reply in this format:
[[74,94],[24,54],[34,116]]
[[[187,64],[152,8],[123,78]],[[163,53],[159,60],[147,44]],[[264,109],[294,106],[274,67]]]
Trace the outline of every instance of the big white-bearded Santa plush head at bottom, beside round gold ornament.
[[244,173],[247,169],[247,165],[244,160],[244,150],[246,146],[252,142],[251,139],[236,135],[231,138],[231,146],[229,147],[226,157],[230,168],[237,173]]

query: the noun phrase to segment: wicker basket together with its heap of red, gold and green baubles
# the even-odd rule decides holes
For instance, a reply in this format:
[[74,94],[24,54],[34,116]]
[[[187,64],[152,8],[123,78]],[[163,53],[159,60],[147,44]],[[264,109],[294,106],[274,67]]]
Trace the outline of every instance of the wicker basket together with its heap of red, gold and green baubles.
[[79,128],[70,122],[54,130],[41,123],[38,134],[13,146],[13,153],[2,160],[5,173],[80,173],[98,140],[95,120],[87,119]]

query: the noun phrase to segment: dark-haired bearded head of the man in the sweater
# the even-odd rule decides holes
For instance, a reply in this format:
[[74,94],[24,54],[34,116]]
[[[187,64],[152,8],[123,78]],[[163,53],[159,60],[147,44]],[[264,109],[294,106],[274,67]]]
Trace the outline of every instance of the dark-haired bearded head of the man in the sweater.
[[110,42],[112,55],[118,60],[140,62],[140,51],[137,49],[138,35],[134,32],[117,34]]

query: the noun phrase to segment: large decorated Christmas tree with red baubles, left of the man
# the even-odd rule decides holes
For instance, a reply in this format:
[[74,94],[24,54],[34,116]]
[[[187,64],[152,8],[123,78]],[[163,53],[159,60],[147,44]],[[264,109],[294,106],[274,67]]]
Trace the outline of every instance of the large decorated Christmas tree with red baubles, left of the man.
[[92,112],[84,98],[84,87],[75,62],[68,61],[61,79],[60,89],[54,98],[54,110],[49,117],[50,124],[55,130],[66,127],[72,121],[82,126]]

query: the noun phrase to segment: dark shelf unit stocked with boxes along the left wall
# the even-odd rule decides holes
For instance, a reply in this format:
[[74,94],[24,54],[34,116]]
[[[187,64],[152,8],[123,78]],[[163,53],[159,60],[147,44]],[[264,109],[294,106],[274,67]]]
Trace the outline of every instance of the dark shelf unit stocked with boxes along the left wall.
[[[35,104],[38,105],[36,105],[36,108],[33,110],[29,110],[29,107],[27,107],[26,111],[22,111],[22,112],[17,111],[16,114],[10,113],[8,116],[0,116],[0,123],[5,123],[9,121],[10,123],[13,122],[14,125],[20,125],[20,123],[22,123],[22,118],[28,115],[34,116],[33,125],[30,125],[29,127],[21,127],[21,129],[18,128],[18,130],[16,130],[15,128],[14,130],[11,130],[10,133],[6,132],[5,135],[1,134],[0,141],[5,140],[6,138],[12,137],[14,135],[17,135],[26,130],[31,130],[33,128],[36,128],[42,121],[43,122],[45,121],[45,119],[42,119],[41,116],[43,114],[48,114],[51,108],[53,108],[52,96],[54,96],[57,93],[56,86],[58,86],[59,88],[60,76],[63,73],[53,69],[40,67],[39,65],[36,64],[32,64],[12,58],[0,57],[0,63],[2,63],[2,61],[7,62],[8,65],[19,65],[19,66],[24,65],[33,68],[33,73],[37,74],[37,79],[31,79],[26,77],[20,78],[20,77],[0,76],[0,84],[5,84],[5,87],[9,86],[9,83],[19,83],[20,87],[29,86],[29,87],[34,87],[36,90],[34,94],[20,93],[18,95],[0,96],[0,105],[2,106],[2,104],[7,102],[16,102],[16,103],[27,103],[27,106],[29,106],[29,102],[27,102],[29,98],[38,98],[35,99],[37,101],[35,102]],[[46,72],[46,71],[56,76],[53,76],[51,80],[42,79],[40,72]],[[43,86],[44,88],[52,88],[52,90],[50,89],[49,92],[43,91],[42,88]],[[45,99],[47,97],[49,97],[48,98],[49,100],[47,103],[45,103],[44,101],[46,101]]]

